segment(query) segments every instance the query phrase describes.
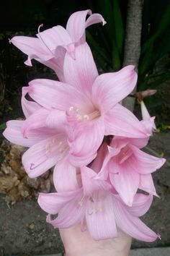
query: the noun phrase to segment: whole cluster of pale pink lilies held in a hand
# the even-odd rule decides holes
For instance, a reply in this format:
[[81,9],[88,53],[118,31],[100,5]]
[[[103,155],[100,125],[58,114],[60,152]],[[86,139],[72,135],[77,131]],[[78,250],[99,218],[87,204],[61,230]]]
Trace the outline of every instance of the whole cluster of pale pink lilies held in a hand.
[[156,195],[151,173],[165,159],[141,150],[152,135],[154,118],[139,121],[120,104],[137,82],[134,67],[97,72],[85,29],[99,22],[105,24],[100,14],[75,12],[66,29],[58,25],[40,32],[40,26],[37,38],[10,40],[27,54],[25,64],[40,61],[60,82],[36,79],[22,88],[25,120],[8,121],[4,137],[29,148],[22,163],[30,177],[54,167],[57,192],[38,197],[54,227],[81,223],[81,230],[96,240],[116,237],[118,228],[152,242],[158,234],[139,217]]

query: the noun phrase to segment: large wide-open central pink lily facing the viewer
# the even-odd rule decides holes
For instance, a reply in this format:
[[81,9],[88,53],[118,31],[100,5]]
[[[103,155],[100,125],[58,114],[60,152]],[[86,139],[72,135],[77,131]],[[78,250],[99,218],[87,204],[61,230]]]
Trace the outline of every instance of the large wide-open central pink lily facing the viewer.
[[[151,135],[146,125],[146,122],[150,124],[151,121],[138,121],[118,103],[135,87],[137,74],[133,66],[124,67],[119,72],[98,75],[89,46],[84,43],[76,47],[75,59],[66,54],[63,70],[66,83],[33,80],[27,90],[35,102],[53,111],[55,124],[58,123],[55,111],[66,113],[73,165],[90,163],[88,158],[91,159],[91,155],[97,153],[104,135],[135,138]],[[29,119],[30,124],[32,118]],[[28,127],[26,121],[25,129]]]

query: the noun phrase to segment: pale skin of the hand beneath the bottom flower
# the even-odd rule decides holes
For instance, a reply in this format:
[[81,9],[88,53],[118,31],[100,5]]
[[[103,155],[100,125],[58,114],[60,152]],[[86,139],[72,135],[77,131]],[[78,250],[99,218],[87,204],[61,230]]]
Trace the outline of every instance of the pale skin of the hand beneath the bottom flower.
[[94,241],[88,231],[81,232],[76,225],[60,230],[66,256],[128,256],[131,237],[118,230],[115,239]]

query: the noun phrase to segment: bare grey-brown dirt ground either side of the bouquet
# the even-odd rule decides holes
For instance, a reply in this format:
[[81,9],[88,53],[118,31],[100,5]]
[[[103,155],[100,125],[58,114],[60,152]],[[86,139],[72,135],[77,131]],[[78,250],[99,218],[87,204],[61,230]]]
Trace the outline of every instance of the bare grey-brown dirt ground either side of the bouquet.
[[[151,138],[150,148],[164,153],[170,160],[170,132]],[[170,168],[164,166],[153,174],[160,199],[155,198],[151,210],[143,217],[151,229],[161,234],[161,240],[145,243],[134,240],[133,247],[170,245]],[[4,195],[0,197],[0,255],[45,255],[63,252],[58,230],[45,223],[45,213],[35,200],[22,200],[10,208]]]

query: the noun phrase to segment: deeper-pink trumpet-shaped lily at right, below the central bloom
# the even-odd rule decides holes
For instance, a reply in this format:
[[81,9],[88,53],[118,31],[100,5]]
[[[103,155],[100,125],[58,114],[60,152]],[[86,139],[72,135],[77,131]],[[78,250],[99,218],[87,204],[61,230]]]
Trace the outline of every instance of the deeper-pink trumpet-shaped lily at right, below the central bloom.
[[[134,145],[135,144],[135,145]],[[141,143],[131,138],[114,137],[108,146],[98,176],[108,179],[126,205],[133,205],[135,194],[143,189],[157,195],[151,173],[164,165],[166,159],[156,158],[138,148]]]

